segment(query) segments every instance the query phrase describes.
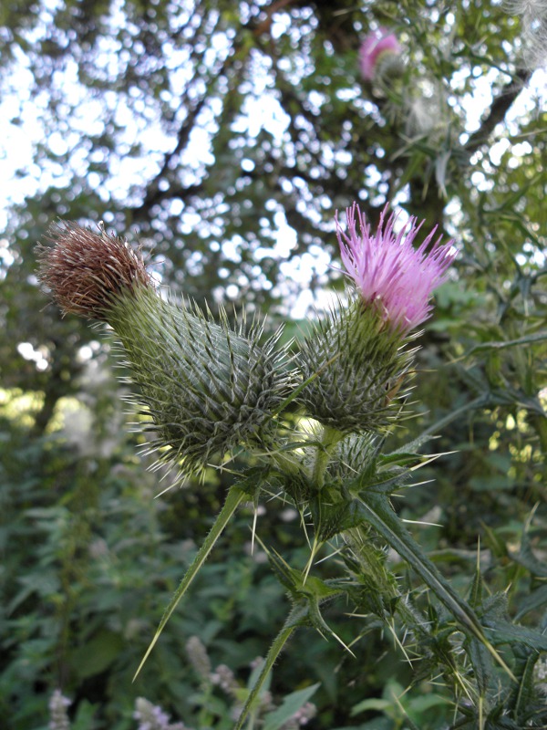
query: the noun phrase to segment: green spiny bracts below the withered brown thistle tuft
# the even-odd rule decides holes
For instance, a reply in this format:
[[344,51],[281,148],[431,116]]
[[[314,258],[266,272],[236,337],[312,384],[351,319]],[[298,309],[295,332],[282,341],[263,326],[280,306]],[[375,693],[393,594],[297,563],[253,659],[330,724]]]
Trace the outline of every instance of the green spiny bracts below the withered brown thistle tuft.
[[232,329],[224,313],[217,324],[147,288],[119,297],[108,323],[139,388],[131,400],[159,436],[160,463],[190,474],[239,444],[267,446],[290,380],[284,350],[274,349],[279,333],[261,346],[261,325]]

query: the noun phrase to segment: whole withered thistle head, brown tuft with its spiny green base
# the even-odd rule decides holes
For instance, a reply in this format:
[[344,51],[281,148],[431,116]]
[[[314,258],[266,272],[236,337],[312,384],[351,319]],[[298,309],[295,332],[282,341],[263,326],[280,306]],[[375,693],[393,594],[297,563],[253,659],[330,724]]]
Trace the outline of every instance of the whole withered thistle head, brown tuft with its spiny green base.
[[217,323],[165,301],[119,238],[67,224],[50,229],[50,240],[38,276],[65,312],[106,321],[119,336],[139,386],[130,400],[151,418],[160,463],[177,463],[179,476],[199,473],[214,454],[268,442],[290,377],[284,349],[275,349],[279,332],[261,346],[260,323],[234,329],[223,312]]

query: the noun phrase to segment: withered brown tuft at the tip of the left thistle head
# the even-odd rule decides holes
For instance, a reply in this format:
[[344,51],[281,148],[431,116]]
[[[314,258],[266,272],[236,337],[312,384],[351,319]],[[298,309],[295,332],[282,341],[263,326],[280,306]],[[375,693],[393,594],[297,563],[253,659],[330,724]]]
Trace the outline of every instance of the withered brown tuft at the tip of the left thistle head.
[[61,221],[49,227],[46,241],[53,245],[36,247],[37,276],[65,314],[106,321],[120,293],[153,287],[140,253],[102,224],[94,233]]

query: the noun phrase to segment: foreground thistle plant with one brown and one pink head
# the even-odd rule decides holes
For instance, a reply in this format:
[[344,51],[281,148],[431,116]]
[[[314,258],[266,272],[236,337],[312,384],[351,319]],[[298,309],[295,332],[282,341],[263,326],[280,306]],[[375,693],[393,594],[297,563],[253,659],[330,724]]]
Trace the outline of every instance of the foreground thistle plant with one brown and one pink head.
[[[448,276],[456,251],[435,231],[416,247],[422,224],[411,218],[396,230],[397,217],[387,210],[376,233],[356,204],[346,219],[345,229],[335,218],[346,296],[294,346],[291,357],[279,344],[279,331],[263,341],[256,321],[247,326],[242,317],[230,323],[223,311],[214,319],[187,302],[161,297],[140,252],[102,229],[58,224],[38,249],[38,276],[63,312],[106,322],[118,336],[117,354],[129,367],[146,427],[158,433],[154,447],[161,449],[161,461],[186,478],[209,464],[222,466],[235,450],[253,454],[140,666],[237,507],[243,500],[256,504],[263,492],[275,490],[301,513],[309,558],[294,567],[263,546],[292,605],[235,728],[252,713],[294,631],[313,627],[344,643],[323,615],[323,607],[337,598],[356,615],[375,615],[394,636],[396,617],[402,621],[431,676],[442,673],[453,684],[456,701],[466,700],[462,716],[481,728],[497,711],[500,673],[520,687],[524,682],[498,646],[510,636],[532,651],[531,644],[547,649],[547,640],[530,631],[515,640],[499,608],[502,600],[494,606],[482,597],[479,570],[470,601],[463,600],[397,515],[391,498],[412,485],[418,466],[430,461],[418,454],[426,440],[386,453],[387,434],[408,416],[416,328],[431,315],[432,292]],[[302,425],[294,426],[294,404]],[[289,406],[292,416],[285,420]],[[315,423],[312,432],[304,428],[309,422]],[[436,597],[427,612],[388,568],[387,547]],[[322,550],[338,556],[337,578],[316,574]],[[409,658],[402,644],[401,651]],[[526,677],[531,671],[527,665]]]

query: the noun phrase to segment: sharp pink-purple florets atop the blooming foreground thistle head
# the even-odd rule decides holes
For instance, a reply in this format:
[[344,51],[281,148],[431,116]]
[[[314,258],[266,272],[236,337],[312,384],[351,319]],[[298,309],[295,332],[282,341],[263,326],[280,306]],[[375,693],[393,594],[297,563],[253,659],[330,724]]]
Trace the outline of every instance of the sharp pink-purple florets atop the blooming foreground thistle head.
[[376,235],[371,235],[370,225],[354,203],[346,210],[347,233],[342,231],[336,212],[336,235],[344,266],[363,299],[404,335],[430,316],[431,293],[445,281],[456,251],[452,241],[440,245],[442,236],[431,243],[437,226],[414,248],[412,243],[424,222],[417,225],[417,219],[410,218],[408,226],[396,234],[397,216],[391,214],[385,223],[386,213],[387,205],[380,214]]

